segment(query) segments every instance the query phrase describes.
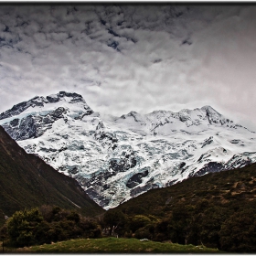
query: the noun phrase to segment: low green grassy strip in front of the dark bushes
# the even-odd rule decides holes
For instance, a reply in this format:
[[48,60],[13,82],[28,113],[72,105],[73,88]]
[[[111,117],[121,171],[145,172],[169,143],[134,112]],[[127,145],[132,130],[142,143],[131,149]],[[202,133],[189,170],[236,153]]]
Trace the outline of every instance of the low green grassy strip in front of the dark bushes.
[[[8,251],[8,250],[7,250]],[[180,245],[168,242],[140,241],[136,239],[78,239],[53,244],[19,248],[14,253],[220,253],[203,246]],[[223,252],[223,251],[222,251]]]

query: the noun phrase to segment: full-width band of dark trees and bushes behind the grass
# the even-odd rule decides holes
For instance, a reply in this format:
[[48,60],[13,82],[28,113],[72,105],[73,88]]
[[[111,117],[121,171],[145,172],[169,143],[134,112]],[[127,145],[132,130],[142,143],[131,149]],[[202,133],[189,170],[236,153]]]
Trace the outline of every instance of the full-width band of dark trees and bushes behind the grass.
[[100,218],[88,219],[74,210],[42,206],[16,211],[1,233],[9,245],[16,247],[115,236],[255,252],[255,207],[254,202],[242,208],[240,205],[221,207],[202,199],[195,205],[178,203],[164,218],[138,213],[136,208],[131,214],[130,208],[129,214],[112,209]]

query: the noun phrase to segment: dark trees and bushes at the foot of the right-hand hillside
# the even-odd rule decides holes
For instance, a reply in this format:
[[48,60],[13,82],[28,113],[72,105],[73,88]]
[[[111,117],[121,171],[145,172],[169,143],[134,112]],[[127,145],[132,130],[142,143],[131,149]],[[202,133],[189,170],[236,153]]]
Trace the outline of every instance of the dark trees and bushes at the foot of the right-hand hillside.
[[246,205],[220,206],[202,199],[195,205],[176,204],[163,218],[138,214],[136,210],[133,214],[112,210],[105,213],[104,223],[117,227],[114,232],[119,237],[204,245],[220,251],[255,252],[255,207],[253,201]]

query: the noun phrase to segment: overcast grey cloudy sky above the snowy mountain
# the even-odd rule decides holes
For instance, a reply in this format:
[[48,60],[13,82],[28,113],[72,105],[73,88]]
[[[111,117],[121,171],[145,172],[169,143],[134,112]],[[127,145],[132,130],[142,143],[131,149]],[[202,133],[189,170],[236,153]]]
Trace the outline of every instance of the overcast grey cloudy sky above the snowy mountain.
[[80,93],[95,112],[211,105],[256,131],[256,5],[0,5],[0,112]]

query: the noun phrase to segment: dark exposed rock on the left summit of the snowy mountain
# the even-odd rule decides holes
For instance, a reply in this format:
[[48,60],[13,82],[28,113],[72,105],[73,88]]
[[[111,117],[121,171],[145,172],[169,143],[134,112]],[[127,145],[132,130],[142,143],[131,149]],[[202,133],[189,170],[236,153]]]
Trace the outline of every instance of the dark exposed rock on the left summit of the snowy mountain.
[[[66,99],[64,99],[64,97],[66,97]],[[47,96],[47,99],[37,96],[30,101],[24,101],[16,104],[11,110],[1,113],[0,120],[11,118],[12,116],[17,116],[21,113],[19,118],[15,118],[13,120],[10,119],[11,121],[9,123],[3,123],[2,126],[16,141],[40,137],[48,129],[51,129],[52,124],[57,120],[63,119],[67,121],[67,118],[65,118],[67,110],[62,106],[46,112],[38,112],[38,109],[43,110],[44,107],[48,108],[50,103],[57,103],[61,101],[68,101],[69,104],[81,103],[81,110],[78,115],[74,117],[75,119],[81,119],[84,115],[92,113],[91,108],[86,105],[80,94],[59,91],[58,94]],[[35,109],[35,112],[29,111],[29,114],[27,115],[27,109],[30,111]]]

